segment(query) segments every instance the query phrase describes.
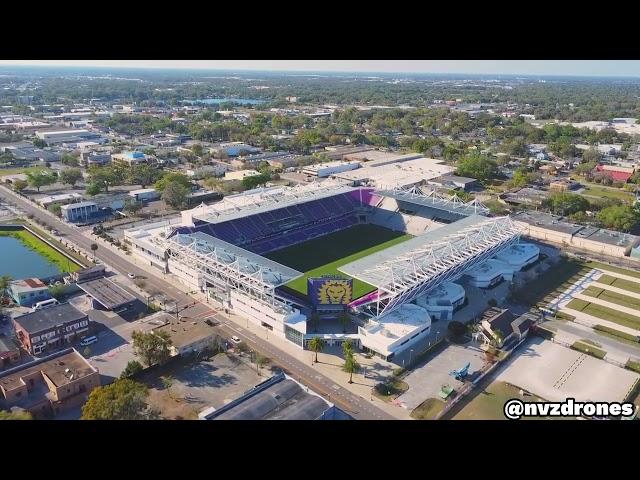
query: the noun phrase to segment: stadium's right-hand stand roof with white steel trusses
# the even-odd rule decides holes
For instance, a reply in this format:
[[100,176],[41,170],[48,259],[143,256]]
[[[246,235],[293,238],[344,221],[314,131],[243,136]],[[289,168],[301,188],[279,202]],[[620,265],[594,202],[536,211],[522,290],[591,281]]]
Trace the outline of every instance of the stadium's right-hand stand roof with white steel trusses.
[[378,295],[357,308],[379,317],[459,278],[517,243],[520,233],[509,217],[470,215],[339,270],[378,289]]

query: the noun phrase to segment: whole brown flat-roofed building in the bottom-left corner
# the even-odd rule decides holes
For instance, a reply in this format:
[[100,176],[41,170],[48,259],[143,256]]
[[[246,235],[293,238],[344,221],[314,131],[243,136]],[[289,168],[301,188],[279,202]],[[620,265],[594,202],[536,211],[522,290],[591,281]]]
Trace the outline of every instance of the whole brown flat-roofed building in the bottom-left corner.
[[0,410],[18,407],[52,418],[82,405],[99,386],[98,370],[69,348],[0,373]]

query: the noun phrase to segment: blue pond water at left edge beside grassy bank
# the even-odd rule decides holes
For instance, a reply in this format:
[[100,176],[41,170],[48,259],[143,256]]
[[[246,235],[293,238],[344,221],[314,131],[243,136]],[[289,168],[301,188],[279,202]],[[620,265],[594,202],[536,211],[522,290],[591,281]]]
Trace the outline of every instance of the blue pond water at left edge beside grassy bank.
[[15,280],[45,278],[60,270],[47,259],[26,247],[13,237],[0,237],[0,275],[11,275]]

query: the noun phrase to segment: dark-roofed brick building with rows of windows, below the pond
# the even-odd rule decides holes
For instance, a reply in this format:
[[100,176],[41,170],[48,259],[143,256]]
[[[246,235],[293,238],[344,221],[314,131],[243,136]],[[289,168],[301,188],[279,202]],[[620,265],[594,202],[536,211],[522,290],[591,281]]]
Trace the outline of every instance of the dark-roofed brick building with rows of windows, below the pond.
[[74,343],[89,332],[89,317],[69,303],[20,315],[13,323],[18,340],[32,355]]

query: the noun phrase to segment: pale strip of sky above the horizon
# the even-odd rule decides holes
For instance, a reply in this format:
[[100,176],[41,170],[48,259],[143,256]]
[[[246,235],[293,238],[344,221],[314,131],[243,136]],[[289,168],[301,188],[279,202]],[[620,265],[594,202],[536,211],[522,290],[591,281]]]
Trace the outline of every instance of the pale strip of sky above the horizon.
[[2,65],[640,77],[639,60],[0,60]]

